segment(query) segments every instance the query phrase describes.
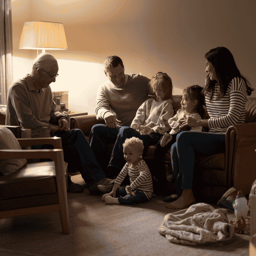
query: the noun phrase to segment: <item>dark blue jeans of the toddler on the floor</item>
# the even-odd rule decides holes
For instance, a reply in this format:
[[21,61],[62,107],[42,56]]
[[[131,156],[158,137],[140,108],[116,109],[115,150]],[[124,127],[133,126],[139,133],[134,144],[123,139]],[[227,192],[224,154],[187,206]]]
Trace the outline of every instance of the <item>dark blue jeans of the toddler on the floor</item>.
[[145,203],[149,201],[147,196],[144,194],[144,192],[140,189],[135,189],[134,196],[133,195],[128,195],[127,192],[125,191],[125,186],[118,187],[116,190],[116,194],[121,196],[118,197],[118,202],[119,204],[140,204],[140,203]]

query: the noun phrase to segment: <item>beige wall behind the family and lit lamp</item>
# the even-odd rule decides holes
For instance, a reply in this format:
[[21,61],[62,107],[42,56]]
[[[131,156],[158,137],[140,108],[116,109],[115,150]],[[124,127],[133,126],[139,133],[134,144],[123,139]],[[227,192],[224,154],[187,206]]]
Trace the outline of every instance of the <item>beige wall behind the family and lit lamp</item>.
[[255,11],[255,0],[12,0],[14,79],[30,72],[37,54],[18,49],[23,24],[43,20],[64,24],[68,50],[48,51],[59,62],[51,88],[69,91],[72,111],[94,113],[96,90],[107,79],[102,63],[113,54],[126,73],[168,73],[173,94],[181,94],[204,85],[204,54],[225,46],[256,89]]

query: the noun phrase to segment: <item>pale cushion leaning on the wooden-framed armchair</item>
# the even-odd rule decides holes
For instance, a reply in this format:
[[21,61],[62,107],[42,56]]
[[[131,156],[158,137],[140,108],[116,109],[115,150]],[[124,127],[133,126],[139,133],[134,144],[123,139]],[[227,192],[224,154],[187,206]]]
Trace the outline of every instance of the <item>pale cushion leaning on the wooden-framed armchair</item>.
[[[0,149],[21,149],[14,134],[0,126]],[[0,172],[4,175],[16,172],[27,163],[27,159],[0,159]]]

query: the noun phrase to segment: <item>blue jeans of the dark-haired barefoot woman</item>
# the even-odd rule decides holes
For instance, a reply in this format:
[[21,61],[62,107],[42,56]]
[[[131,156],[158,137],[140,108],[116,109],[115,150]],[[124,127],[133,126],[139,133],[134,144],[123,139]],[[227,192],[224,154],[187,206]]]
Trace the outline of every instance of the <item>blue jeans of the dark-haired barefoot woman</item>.
[[181,132],[171,147],[171,160],[177,196],[183,189],[192,189],[195,155],[225,152],[225,134],[207,132]]

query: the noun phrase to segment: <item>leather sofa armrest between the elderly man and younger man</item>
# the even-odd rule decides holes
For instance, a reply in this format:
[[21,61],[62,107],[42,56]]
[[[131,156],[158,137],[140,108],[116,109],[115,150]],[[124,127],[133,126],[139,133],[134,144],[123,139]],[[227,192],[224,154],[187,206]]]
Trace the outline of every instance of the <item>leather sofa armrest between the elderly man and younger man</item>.
[[105,124],[104,120],[97,120],[96,115],[74,116],[70,118],[70,129],[80,129],[85,136],[89,136],[95,124]]

